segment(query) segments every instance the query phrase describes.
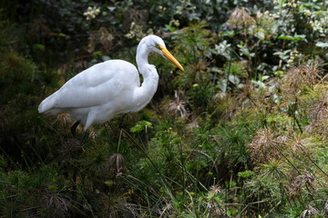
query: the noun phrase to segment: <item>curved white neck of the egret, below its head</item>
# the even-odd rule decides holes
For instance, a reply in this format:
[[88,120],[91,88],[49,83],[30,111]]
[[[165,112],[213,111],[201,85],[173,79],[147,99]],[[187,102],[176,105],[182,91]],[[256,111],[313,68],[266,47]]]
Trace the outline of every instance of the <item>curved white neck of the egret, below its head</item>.
[[141,107],[139,110],[146,106],[146,104],[149,104],[159,84],[159,74],[157,73],[156,67],[148,62],[150,52],[151,50],[147,45],[140,42],[137,48],[136,61],[138,64],[138,71],[142,74],[143,82],[141,86],[137,88],[134,95],[135,100],[138,101],[138,106]]

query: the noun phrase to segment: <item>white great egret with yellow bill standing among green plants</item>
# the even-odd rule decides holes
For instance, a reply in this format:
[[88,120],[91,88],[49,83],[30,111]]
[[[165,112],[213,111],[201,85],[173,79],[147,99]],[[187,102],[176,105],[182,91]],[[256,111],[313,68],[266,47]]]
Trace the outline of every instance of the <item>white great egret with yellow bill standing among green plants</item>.
[[[148,62],[150,52],[161,54],[184,71],[163,40],[159,36],[148,35],[138,44],[138,70],[123,60],[95,64],[48,96],[38,106],[39,113],[71,114],[77,120],[71,127],[72,134],[75,135],[79,123],[85,124],[83,142],[91,124],[105,123],[117,114],[138,112],[149,104],[159,84],[156,67]],[[141,85],[138,71],[143,76]]]

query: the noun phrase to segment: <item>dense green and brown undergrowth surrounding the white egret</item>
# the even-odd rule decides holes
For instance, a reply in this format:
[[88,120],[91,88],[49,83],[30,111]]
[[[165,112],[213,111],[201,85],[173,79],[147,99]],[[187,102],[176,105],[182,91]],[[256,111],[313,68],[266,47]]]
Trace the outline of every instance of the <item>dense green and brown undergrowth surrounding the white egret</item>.
[[[256,2],[3,1],[0,216],[327,216],[325,1]],[[135,63],[151,33],[185,72],[152,55],[138,114],[82,149],[69,114],[37,113],[88,66]]]

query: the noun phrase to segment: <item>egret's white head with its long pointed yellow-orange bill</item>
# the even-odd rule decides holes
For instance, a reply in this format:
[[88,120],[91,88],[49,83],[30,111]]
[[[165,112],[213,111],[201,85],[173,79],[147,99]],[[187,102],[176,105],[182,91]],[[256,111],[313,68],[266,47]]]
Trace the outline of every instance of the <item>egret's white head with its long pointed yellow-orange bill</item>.
[[[149,46],[152,52],[162,55],[163,57],[169,59],[170,62],[178,66],[181,71],[184,71],[183,67],[175,57],[169,53],[164,41],[157,35],[148,35],[144,37],[141,41],[145,40],[146,45]],[[141,43],[141,42],[140,42]]]

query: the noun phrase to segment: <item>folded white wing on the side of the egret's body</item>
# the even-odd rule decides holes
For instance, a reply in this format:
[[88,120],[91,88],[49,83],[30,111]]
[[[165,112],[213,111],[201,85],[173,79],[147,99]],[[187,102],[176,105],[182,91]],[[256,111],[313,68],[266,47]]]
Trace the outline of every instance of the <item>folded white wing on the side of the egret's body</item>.
[[56,94],[57,108],[107,104],[126,89],[140,86],[138,70],[122,60],[95,64],[67,81]]

